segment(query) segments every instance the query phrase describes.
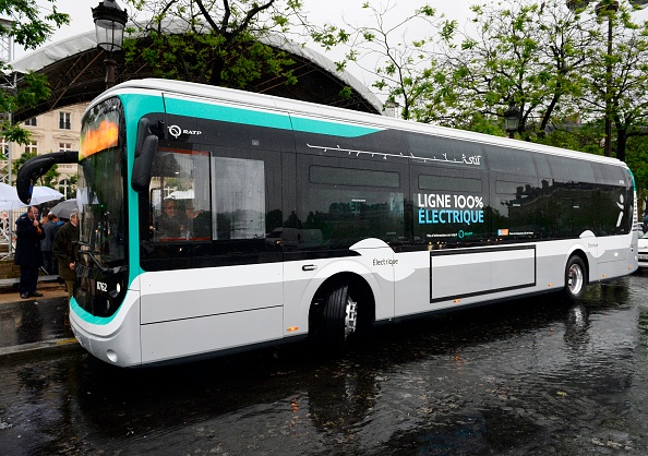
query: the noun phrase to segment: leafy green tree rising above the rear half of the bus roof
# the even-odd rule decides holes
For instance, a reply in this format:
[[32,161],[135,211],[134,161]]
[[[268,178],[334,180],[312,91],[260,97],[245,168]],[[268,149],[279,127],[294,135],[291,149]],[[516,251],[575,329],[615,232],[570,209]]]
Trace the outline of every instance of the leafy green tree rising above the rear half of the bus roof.
[[574,113],[571,100],[583,93],[595,20],[559,0],[503,1],[472,12],[477,37],[465,34],[448,53],[457,116],[501,118],[513,103],[520,110],[518,132],[532,139]]

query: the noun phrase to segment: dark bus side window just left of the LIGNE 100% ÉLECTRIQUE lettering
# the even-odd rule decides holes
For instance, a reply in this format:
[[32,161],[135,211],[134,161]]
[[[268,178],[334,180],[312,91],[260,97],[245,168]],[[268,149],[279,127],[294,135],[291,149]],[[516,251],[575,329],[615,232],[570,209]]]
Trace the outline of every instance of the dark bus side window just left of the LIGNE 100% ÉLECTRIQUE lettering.
[[298,157],[298,218],[284,225],[287,250],[346,249],[368,238],[406,240],[403,178],[394,164]]

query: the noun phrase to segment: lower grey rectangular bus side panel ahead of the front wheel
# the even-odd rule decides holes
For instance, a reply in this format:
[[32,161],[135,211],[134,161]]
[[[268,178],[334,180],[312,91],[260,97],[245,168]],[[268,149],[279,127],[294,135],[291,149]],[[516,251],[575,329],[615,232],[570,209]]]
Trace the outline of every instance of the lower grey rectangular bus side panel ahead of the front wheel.
[[281,307],[142,326],[142,362],[208,353],[281,338]]

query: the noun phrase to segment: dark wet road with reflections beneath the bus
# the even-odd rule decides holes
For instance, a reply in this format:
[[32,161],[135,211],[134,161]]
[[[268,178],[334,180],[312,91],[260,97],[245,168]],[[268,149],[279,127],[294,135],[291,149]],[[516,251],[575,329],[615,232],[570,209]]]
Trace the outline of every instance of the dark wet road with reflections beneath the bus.
[[3,364],[3,454],[648,452],[648,274],[304,344],[145,370]]

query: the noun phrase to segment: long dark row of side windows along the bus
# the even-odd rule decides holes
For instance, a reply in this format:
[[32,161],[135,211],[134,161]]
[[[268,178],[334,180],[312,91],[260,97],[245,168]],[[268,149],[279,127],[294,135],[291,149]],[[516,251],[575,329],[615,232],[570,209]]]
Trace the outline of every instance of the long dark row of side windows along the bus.
[[[305,154],[295,159],[290,177],[281,171],[280,153],[160,147],[142,202],[148,207],[142,213],[148,221],[143,262],[149,268],[244,264],[280,261],[284,252],[344,251],[367,238],[416,250],[564,239],[584,227],[596,236],[632,228],[631,190],[620,184],[488,173],[416,158],[409,165]],[[621,183],[621,177],[608,180]]]

